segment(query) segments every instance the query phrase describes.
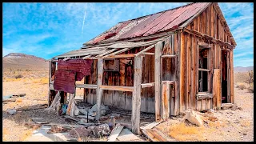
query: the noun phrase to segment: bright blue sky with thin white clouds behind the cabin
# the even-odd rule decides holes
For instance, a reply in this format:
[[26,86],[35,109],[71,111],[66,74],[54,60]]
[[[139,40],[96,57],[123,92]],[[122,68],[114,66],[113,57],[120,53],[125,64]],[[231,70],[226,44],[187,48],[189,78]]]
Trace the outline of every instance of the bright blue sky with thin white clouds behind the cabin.
[[[24,53],[49,59],[79,49],[82,43],[118,22],[186,4],[3,3],[2,56],[9,53]],[[254,4],[218,4],[238,44],[234,50],[234,66],[253,66]]]

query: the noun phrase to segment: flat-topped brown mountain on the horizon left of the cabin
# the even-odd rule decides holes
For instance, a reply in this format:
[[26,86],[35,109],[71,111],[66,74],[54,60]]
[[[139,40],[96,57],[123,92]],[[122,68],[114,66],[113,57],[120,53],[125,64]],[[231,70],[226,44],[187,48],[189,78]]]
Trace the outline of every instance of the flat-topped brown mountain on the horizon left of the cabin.
[[2,58],[3,70],[48,70],[49,62],[44,58],[22,53],[10,53]]

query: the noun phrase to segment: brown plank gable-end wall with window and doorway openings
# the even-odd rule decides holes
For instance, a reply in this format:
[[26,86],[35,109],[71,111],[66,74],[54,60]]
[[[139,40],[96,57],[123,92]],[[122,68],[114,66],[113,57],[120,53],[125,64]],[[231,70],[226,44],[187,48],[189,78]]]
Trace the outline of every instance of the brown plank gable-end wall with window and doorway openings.
[[[218,14],[214,9],[214,5],[211,4],[206,10],[199,14],[197,18],[194,18],[193,22],[186,27],[190,30],[195,30],[201,34],[207,34],[215,39],[220,39],[224,42],[230,43],[230,35],[224,30],[218,18]],[[181,54],[180,54],[180,110],[187,109],[194,110],[208,110],[216,106],[216,98],[205,100],[197,100],[196,94],[198,94],[198,42],[206,42],[204,39],[199,38],[194,34],[187,34],[183,32],[181,34]],[[213,73],[214,69],[221,69],[221,49],[225,48],[218,43],[212,44],[210,49],[210,86],[209,91],[213,94]],[[233,50],[230,50],[230,69],[231,81],[233,81]],[[221,74],[220,74],[221,76]],[[220,89],[221,86],[220,86]],[[230,83],[231,101],[234,102],[234,90],[233,82]],[[233,96],[232,96],[233,95]],[[213,102],[211,102],[213,101]]]

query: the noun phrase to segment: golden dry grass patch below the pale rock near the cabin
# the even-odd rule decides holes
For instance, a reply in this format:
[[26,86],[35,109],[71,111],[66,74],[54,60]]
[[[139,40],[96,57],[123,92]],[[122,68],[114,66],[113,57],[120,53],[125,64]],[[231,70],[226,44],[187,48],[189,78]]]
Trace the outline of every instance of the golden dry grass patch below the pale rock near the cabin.
[[203,126],[186,126],[185,123],[175,124],[169,127],[169,135],[178,141],[203,141]]

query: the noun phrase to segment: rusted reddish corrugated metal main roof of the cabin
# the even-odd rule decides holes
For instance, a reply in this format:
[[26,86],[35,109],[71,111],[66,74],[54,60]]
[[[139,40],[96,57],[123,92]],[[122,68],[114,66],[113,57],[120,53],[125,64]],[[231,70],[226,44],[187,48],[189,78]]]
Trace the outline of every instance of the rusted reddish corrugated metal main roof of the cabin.
[[105,33],[86,42],[86,44],[94,45],[98,42],[106,42],[107,40],[118,41],[126,38],[148,36],[166,30],[175,30],[194,16],[194,14],[198,14],[198,11],[205,10],[207,6],[210,6],[210,2],[190,3],[189,5],[162,11],[157,14],[120,22]]

